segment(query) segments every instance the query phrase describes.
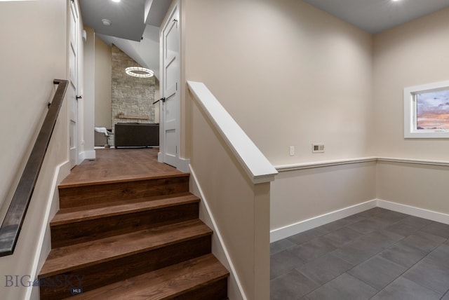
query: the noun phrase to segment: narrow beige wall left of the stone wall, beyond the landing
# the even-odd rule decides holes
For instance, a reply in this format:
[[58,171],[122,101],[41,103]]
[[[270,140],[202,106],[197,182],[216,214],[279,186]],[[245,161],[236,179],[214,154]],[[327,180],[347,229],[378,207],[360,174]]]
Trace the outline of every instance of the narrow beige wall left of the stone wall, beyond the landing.
[[95,127],[112,128],[112,50],[95,36]]

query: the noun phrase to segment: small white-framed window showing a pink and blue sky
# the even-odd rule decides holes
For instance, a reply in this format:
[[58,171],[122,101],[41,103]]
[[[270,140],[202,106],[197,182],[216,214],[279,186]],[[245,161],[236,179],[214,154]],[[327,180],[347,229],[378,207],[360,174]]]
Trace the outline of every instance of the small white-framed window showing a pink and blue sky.
[[449,138],[449,81],[404,88],[404,137]]

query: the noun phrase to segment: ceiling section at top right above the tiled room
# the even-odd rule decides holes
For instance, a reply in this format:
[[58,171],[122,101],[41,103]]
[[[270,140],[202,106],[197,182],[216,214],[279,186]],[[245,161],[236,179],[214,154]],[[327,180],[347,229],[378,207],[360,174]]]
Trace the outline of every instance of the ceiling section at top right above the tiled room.
[[371,34],[449,6],[449,0],[303,0]]

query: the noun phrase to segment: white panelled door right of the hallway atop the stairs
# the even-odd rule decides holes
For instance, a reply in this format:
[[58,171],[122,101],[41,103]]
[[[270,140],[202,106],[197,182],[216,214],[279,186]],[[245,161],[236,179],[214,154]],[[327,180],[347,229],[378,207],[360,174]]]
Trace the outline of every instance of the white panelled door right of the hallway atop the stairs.
[[163,163],[177,167],[180,149],[180,28],[178,6],[162,29],[161,152]]

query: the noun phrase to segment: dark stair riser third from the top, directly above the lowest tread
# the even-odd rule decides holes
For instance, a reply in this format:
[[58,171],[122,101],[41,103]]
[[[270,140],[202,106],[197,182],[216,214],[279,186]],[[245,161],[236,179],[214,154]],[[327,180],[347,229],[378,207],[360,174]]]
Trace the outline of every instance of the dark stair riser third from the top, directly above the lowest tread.
[[[147,252],[133,254],[128,257],[105,261],[100,264],[79,268],[76,271],[60,273],[49,278],[41,279],[50,282],[66,282],[66,285],[58,284],[55,287],[41,287],[41,300],[44,299],[63,299],[72,296],[70,293],[70,284],[79,284],[81,278],[81,287],[83,292],[91,289],[108,285],[120,280],[126,280],[142,273],[164,268],[172,264],[178,264],[194,257],[210,253],[211,236],[203,236],[187,240],[182,243],[168,245],[166,247],[150,250]],[[72,279],[72,280],[70,280]],[[211,298],[213,299],[213,298]]]

